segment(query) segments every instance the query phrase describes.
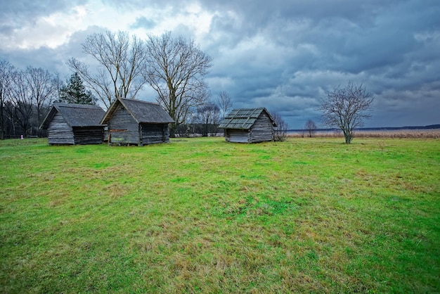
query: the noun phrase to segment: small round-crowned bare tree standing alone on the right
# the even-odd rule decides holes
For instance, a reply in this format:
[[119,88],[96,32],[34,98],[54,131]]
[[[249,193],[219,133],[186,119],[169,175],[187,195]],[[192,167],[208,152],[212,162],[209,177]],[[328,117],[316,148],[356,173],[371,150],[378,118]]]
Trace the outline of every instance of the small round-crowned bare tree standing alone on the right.
[[373,94],[365,87],[349,82],[346,87],[336,87],[322,99],[318,110],[323,113],[323,123],[329,127],[338,127],[344,133],[345,143],[351,143],[354,129],[362,127],[371,115]]

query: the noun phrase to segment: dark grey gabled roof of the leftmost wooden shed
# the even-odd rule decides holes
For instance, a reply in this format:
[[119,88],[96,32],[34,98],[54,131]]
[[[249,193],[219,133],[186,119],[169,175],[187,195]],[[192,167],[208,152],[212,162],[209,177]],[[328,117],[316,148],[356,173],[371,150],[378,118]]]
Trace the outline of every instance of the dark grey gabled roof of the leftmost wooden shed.
[[56,113],[60,113],[70,127],[100,127],[101,119],[105,115],[103,108],[94,105],[53,103],[40,129],[47,129]]

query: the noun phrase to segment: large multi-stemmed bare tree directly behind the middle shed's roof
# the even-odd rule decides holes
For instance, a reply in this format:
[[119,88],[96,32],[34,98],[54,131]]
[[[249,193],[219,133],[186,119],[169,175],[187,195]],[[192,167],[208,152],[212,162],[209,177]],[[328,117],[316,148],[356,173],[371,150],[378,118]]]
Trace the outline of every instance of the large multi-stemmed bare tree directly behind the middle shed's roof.
[[117,97],[136,98],[146,83],[142,75],[147,64],[144,41],[127,32],[96,33],[87,37],[82,50],[98,62],[95,71],[75,58],[67,64],[107,108]]

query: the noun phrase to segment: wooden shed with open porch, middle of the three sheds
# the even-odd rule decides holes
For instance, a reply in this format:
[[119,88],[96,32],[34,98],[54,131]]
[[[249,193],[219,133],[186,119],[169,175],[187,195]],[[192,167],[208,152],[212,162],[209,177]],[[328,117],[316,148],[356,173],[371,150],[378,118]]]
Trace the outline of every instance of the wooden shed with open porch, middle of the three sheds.
[[169,142],[168,124],[174,122],[157,103],[118,98],[108,108],[101,124],[108,125],[108,143],[148,145]]

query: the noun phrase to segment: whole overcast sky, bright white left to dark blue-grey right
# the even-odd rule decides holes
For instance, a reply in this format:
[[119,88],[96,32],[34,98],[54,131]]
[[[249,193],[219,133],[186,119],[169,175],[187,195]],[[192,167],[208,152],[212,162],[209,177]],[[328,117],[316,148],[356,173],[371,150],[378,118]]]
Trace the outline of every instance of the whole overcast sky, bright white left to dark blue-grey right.
[[[365,127],[440,124],[439,0],[0,0],[0,59],[72,72],[93,32],[172,31],[213,58],[212,98],[266,107],[291,129],[349,81],[375,96]],[[142,97],[154,101],[155,97]]]

